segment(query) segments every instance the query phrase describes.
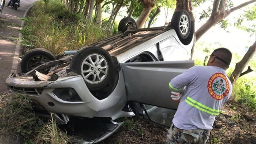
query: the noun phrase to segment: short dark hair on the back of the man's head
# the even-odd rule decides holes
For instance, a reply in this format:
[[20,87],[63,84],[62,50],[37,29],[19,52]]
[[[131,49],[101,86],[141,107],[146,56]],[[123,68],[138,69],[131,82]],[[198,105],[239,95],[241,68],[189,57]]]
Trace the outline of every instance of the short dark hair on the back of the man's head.
[[224,47],[215,49],[212,52],[212,55],[215,55],[217,59],[227,64],[227,66],[229,66],[232,59],[232,53],[227,48],[224,48]]

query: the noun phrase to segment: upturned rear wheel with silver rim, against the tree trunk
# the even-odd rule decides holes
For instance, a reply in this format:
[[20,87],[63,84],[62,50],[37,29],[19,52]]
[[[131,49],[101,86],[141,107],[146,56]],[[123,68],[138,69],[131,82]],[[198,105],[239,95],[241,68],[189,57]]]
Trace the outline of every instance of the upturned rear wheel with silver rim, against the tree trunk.
[[[187,11],[177,10],[174,12],[171,20],[171,26],[176,31],[179,39],[183,44],[190,43],[191,19]],[[194,30],[193,30],[194,32]],[[193,33],[192,33],[193,35]],[[190,40],[190,41],[189,41]],[[189,41],[189,42],[188,42]]]

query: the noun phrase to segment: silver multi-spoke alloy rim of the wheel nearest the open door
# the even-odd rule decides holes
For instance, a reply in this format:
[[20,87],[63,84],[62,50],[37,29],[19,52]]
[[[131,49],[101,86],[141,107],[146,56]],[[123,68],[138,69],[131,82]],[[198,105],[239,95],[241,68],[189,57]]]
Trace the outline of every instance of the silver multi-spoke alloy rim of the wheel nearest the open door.
[[81,74],[90,84],[102,82],[108,75],[108,62],[100,54],[90,54],[82,62]]

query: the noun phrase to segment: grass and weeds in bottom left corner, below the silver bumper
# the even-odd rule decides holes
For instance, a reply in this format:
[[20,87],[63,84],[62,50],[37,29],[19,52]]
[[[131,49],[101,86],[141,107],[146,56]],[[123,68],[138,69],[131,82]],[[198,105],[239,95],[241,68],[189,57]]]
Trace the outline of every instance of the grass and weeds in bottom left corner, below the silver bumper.
[[[67,133],[58,129],[55,120],[43,121],[33,111],[31,99],[21,95],[3,95],[0,99],[0,135],[23,138],[26,144],[71,143]],[[1,137],[0,141],[3,141]]]

